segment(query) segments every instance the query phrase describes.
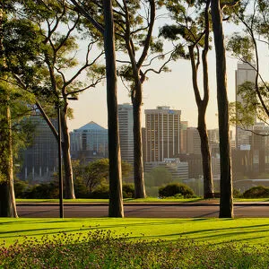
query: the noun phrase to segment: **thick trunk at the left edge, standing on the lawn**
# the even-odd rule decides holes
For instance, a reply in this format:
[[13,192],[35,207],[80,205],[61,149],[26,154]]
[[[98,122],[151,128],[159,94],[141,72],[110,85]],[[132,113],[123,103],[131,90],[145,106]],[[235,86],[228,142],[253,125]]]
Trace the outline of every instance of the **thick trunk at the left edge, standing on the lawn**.
[[8,100],[0,95],[0,217],[18,217],[13,187],[12,126]]

